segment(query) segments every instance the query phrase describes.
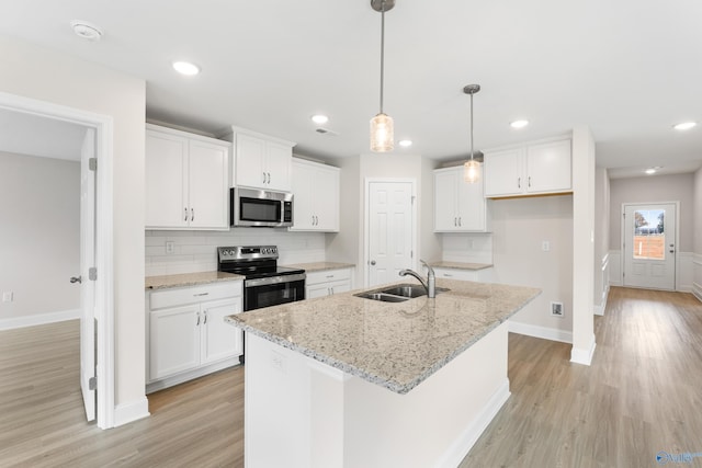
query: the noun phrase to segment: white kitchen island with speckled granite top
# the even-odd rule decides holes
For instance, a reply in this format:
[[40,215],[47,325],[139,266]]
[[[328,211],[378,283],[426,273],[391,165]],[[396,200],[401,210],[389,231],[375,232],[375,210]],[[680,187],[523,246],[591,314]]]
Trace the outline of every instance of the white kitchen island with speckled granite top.
[[247,331],[247,468],[456,466],[509,397],[506,321],[540,292],[438,286],[228,317]]

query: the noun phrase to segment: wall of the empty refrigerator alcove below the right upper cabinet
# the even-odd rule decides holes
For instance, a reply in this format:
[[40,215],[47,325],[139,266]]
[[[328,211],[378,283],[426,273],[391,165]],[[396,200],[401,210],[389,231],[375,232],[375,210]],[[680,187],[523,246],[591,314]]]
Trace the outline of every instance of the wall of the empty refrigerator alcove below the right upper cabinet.
[[[551,250],[543,250],[543,242]],[[492,203],[492,261],[496,283],[533,286],[543,293],[510,321],[523,332],[571,341],[573,196],[498,199]],[[565,317],[551,316],[551,301]],[[516,330],[514,328],[510,328]]]

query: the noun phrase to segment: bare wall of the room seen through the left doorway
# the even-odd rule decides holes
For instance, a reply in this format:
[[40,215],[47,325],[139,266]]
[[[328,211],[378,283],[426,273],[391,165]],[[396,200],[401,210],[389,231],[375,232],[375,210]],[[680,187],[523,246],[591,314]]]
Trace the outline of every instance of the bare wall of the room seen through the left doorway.
[[0,329],[78,317],[80,163],[0,152]]

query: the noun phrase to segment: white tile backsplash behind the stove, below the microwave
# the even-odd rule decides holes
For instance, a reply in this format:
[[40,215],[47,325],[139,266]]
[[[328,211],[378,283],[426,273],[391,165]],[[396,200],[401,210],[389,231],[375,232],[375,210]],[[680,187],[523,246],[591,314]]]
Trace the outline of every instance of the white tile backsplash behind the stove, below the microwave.
[[[173,253],[166,242],[173,242]],[[235,228],[229,231],[146,231],[146,276],[217,270],[217,247],[278,246],[280,265],[324,262],[324,232]]]

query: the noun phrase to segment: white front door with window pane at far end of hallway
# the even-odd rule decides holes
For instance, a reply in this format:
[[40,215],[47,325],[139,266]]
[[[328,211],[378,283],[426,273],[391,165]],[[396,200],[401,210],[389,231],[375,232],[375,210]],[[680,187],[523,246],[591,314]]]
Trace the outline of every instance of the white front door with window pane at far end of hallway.
[[624,286],[676,288],[676,205],[624,205]]

